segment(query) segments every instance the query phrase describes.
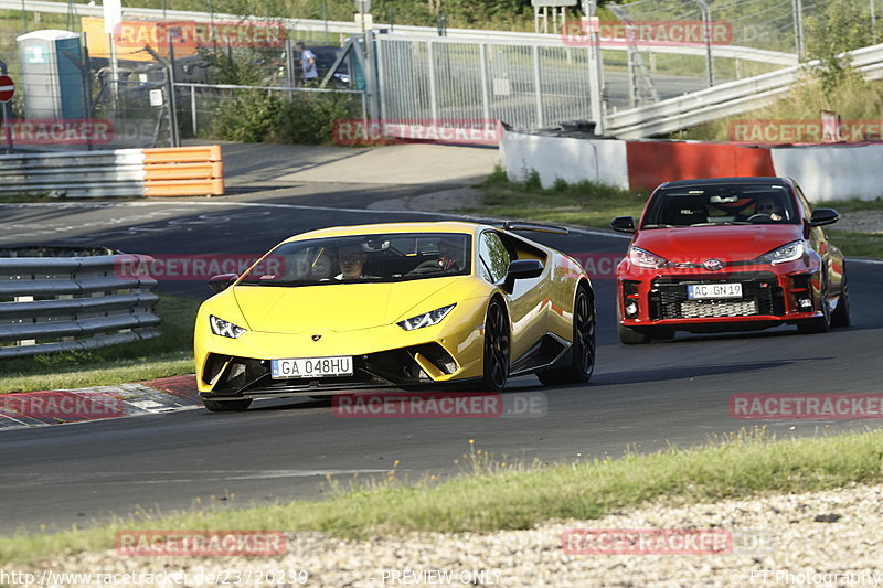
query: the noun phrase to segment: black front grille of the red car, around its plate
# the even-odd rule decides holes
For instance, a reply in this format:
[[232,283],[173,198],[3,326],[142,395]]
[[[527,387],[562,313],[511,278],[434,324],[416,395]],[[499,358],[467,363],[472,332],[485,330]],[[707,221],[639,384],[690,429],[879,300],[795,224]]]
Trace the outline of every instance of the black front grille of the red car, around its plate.
[[[741,299],[690,300],[689,285],[742,284]],[[696,276],[690,278],[660,277],[650,290],[650,318],[704,319],[723,317],[753,317],[785,313],[781,288],[774,274],[730,274],[726,276]]]

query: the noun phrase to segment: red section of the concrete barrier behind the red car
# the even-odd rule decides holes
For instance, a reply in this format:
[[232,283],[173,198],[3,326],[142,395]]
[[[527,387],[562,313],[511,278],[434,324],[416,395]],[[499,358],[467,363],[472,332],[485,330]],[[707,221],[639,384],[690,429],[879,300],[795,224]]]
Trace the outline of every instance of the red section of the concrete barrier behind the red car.
[[765,147],[628,141],[626,158],[632,190],[652,190],[662,182],[693,178],[776,175],[773,157]]

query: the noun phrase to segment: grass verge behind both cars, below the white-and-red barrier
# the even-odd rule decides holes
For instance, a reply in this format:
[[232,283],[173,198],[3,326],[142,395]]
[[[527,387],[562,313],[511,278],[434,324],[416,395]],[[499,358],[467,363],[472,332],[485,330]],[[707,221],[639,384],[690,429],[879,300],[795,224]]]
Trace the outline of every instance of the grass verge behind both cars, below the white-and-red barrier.
[[[544,189],[540,185],[536,172],[526,181],[511,182],[500,168],[478,188],[482,191],[482,206],[462,209],[460,212],[599,228],[610,228],[610,221],[615,216],[630,215],[637,218],[649,196],[646,192],[631,192],[593,182],[567,184],[558,180],[553,188]],[[816,207],[831,207],[841,214],[854,215],[863,211],[883,210],[883,199],[819,202]],[[828,231],[828,235],[850,257],[883,258],[881,234],[833,228]]]

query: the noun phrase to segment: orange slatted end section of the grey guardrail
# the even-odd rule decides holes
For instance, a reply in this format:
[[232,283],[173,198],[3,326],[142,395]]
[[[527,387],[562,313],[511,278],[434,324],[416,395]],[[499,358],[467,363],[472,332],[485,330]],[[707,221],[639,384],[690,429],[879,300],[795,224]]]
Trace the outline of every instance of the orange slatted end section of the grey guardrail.
[[146,196],[221,196],[221,146],[142,149]]

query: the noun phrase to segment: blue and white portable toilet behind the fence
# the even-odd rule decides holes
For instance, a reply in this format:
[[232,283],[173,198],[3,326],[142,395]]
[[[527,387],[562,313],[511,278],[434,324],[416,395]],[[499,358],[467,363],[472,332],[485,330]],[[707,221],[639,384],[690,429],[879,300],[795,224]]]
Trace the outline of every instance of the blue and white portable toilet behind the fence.
[[24,114],[28,118],[87,118],[85,83],[76,63],[83,61],[79,35],[44,30],[23,34],[19,42]]

